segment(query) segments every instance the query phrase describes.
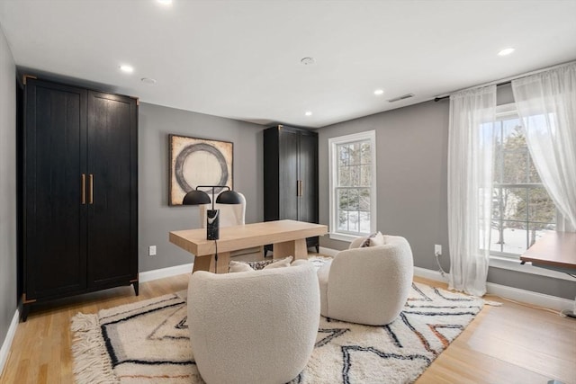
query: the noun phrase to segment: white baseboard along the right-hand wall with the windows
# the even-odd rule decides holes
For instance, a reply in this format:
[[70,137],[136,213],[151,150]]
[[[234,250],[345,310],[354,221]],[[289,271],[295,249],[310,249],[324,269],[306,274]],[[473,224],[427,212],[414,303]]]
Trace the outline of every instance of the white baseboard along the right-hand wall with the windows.
[[[320,247],[320,253],[334,256],[338,254],[338,250]],[[447,273],[445,278],[442,277],[439,271],[429,270],[426,268],[414,267],[414,275],[428,280],[448,281]],[[497,295],[506,299],[513,299],[536,307],[550,308],[558,311],[563,309],[572,310],[574,308],[574,300],[571,299],[545,295],[544,293],[534,292],[532,290],[520,290],[518,288],[495,284],[493,282],[486,283],[486,290],[489,294]]]

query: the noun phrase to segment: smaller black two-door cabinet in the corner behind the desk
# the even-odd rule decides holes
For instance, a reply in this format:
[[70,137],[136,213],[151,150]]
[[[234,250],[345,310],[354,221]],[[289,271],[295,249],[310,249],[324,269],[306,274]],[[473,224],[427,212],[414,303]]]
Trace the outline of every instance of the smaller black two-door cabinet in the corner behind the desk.
[[[318,223],[318,133],[284,125],[264,130],[264,219]],[[318,251],[318,237],[306,243]]]

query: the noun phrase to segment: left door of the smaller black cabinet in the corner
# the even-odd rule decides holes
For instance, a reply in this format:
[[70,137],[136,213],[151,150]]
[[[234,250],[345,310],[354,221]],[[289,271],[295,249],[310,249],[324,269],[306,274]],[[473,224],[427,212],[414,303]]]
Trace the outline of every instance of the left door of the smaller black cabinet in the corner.
[[279,219],[298,219],[298,142],[299,134],[279,132]]

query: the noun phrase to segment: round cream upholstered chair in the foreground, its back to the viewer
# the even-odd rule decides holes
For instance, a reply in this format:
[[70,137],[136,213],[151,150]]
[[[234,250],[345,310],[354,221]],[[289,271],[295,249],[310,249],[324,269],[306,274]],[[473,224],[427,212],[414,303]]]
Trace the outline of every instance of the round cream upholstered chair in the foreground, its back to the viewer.
[[320,291],[308,261],[263,271],[194,272],[188,285],[193,358],[207,383],[286,383],[310,359]]

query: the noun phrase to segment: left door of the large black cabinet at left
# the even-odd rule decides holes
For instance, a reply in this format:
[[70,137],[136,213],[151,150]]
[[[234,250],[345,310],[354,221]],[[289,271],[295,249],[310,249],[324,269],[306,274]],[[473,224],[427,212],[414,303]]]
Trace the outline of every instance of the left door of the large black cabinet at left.
[[85,289],[85,90],[28,79],[23,255],[26,299]]

